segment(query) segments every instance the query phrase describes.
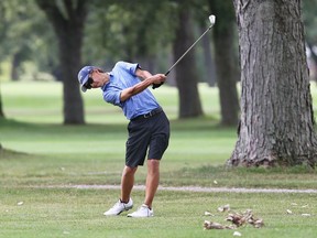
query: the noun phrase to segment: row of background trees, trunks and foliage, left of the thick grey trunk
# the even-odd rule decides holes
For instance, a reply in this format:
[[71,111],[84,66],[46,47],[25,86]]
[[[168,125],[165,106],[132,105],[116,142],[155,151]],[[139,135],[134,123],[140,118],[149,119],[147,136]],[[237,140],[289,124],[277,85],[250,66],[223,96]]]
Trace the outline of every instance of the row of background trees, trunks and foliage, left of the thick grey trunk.
[[6,46],[0,60],[11,56],[11,78],[19,78],[25,61],[34,62],[37,72],[54,75],[63,83],[64,123],[75,125],[85,123],[78,68],[85,64],[110,67],[124,60],[138,61],[153,73],[164,72],[208,26],[209,14],[216,14],[212,39],[208,35],[204,45],[197,46],[203,47],[205,63],[197,64],[194,48],[168,82],[179,91],[179,118],[199,117],[204,111],[197,83],[215,82],[217,68],[221,123],[238,122],[237,26],[230,1],[4,0],[0,8],[0,41]]

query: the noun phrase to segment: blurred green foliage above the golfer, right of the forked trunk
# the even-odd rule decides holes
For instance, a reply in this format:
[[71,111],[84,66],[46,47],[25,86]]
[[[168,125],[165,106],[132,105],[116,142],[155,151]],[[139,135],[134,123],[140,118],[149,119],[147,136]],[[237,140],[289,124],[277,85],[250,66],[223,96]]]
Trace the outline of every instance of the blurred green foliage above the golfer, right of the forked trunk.
[[105,62],[107,57],[106,61],[116,62],[153,57],[171,42],[173,6],[167,1],[138,2],[105,1],[91,6],[86,24],[84,61],[94,58],[95,62]]

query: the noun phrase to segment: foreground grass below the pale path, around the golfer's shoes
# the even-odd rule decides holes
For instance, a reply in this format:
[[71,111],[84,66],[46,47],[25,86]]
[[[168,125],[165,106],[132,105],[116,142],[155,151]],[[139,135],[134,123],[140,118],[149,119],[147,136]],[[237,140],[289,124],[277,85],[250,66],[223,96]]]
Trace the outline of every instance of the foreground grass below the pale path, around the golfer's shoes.
[[[264,228],[251,226],[238,230],[243,237],[314,237],[316,196],[304,194],[231,194],[160,192],[155,199],[155,217],[131,219],[127,213],[105,217],[117,191],[69,188],[1,190],[1,237],[232,237],[233,230],[204,230],[204,220],[221,224],[228,213],[217,207],[230,204],[231,212],[251,208],[264,220]],[[136,204],[143,193],[133,192]],[[18,203],[23,202],[19,206]],[[297,205],[292,205],[296,203]],[[307,207],[303,207],[308,205]],[[286,209],[293,212],[286,214]],[[210,212],[215,216],[205,216]]]

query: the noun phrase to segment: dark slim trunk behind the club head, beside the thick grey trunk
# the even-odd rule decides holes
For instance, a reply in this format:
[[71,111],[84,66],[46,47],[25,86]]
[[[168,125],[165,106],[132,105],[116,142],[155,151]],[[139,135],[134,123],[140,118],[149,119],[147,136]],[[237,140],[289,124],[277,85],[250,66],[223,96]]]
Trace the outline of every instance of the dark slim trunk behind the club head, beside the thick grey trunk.
[[237,126],[239,97],[234,39],[234,9],[231,1],[209,0],[210,12],[216,14],[214,41],[216,51],[217,85],[220,96],[221,125]]

